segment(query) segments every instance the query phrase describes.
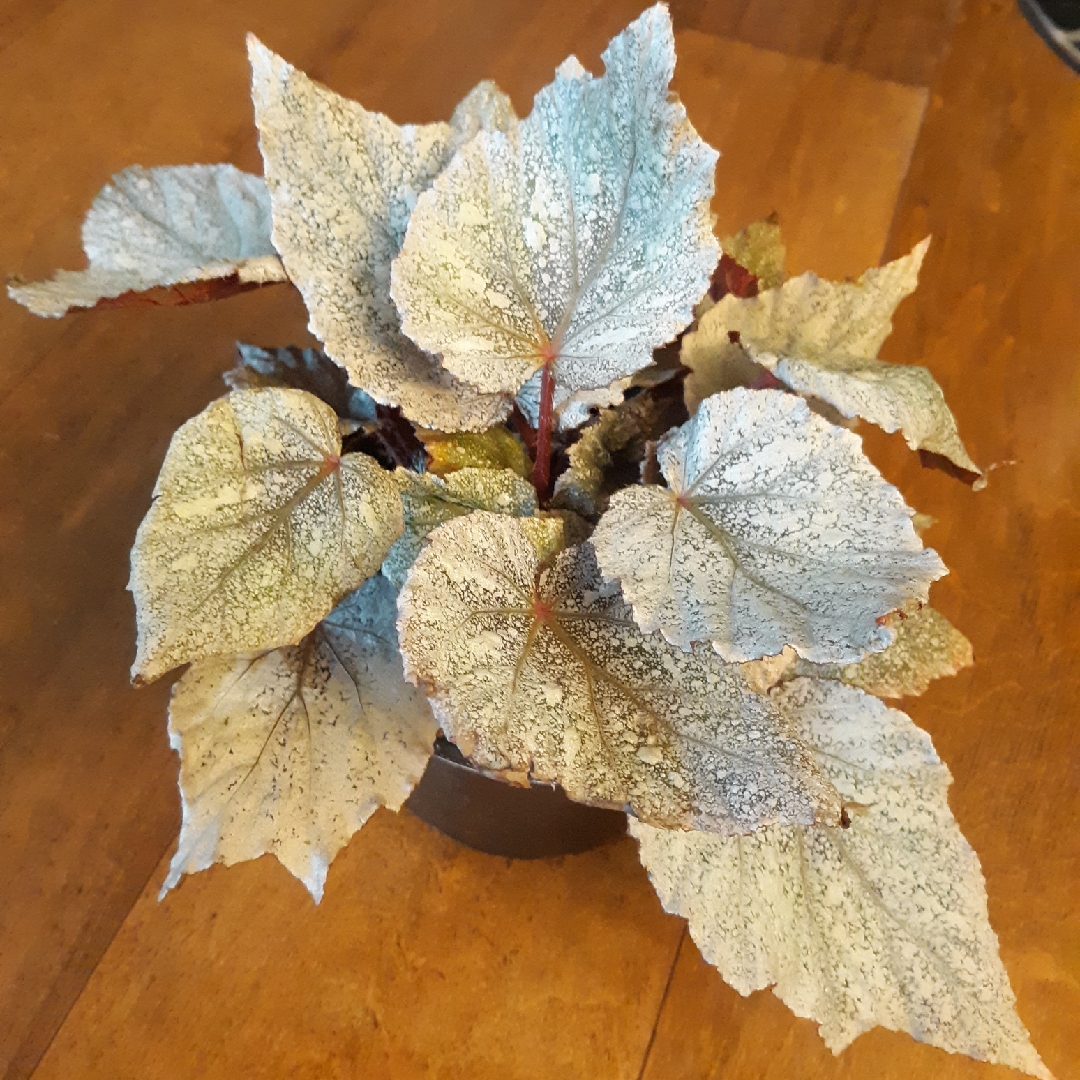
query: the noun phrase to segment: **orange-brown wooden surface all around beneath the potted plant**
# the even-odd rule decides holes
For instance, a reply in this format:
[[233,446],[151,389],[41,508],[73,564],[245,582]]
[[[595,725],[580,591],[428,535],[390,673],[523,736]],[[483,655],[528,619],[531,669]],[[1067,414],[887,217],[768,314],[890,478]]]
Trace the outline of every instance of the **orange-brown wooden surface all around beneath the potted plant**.
[[[124,165],[259,170],[243,31],[427,121],[494,77],[519,109],[642,0],[0,0],[0,266],[81,264]],[[677,82],[724,158],[718,228],[780,212],[789,269],[934,235],[885,355],[923,363],[973,494],[870,453],[937,524],[933,602],[976,666],[905,703],[956,783],[1036,1045],[1080,1077],[1076,701],[1080,80],[1008,0],[680,0]],[[378,813],[315,908],[272,859],[156,895],[178,826],[167,686],[136,692],[126,551],[173,430],[240,338],[306,342],[288,289],[62,322],[0,306],[0,1075],[704,1080],[1004,1077],[876,1030],[840,1057],[660,909],[632,841],[552,862]],[[5,1070],[5,1071],[4,1071]]]

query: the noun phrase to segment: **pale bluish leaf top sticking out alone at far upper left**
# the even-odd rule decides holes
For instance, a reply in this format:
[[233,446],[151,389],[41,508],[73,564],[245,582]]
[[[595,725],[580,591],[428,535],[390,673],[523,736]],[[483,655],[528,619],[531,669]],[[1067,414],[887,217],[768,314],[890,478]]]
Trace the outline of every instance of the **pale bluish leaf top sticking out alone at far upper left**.
[[87,270],[16,283],[12,299],[56,319],[72,308],[159,285],[239,275],[285,281],[270,242],[270,198],[260,176],[232,165],[179,165],[117,173],[82,224]]

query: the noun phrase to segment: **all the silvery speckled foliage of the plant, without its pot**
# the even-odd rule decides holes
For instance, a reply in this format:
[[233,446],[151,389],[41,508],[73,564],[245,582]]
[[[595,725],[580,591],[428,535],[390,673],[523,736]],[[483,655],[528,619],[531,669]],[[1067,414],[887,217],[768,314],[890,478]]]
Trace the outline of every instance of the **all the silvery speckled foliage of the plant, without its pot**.
[[273,852],[318,901],[436,734],[629,819],[743,994],[839,1051],[876,1025],[1047,1077],[929,737],[882,699],[971,662],[946,572],[851,430],[978,467],[877,359],[927,242],[785,280],[717,241],[666,9],[518,119],[490,83],[399,126],[248,43],[265,178],[133,167],[42,315],[292,283],[323,350],[241,346],[132,553],[136,681],[188,666],[165,889]]

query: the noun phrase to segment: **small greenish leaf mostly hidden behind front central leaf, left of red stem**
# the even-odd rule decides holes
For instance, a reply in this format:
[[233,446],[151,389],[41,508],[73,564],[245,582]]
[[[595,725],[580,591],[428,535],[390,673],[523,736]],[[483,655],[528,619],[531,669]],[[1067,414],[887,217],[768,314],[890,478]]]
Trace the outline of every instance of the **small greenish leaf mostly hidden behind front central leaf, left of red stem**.
[[405,508],[405,531],[382,564],[382,572],[397,586],[420,554],[432,529],[474,510],[529,517],[537,512],[536,489],[509,469],[459,469],[445,480],[397,469],[394,480]]

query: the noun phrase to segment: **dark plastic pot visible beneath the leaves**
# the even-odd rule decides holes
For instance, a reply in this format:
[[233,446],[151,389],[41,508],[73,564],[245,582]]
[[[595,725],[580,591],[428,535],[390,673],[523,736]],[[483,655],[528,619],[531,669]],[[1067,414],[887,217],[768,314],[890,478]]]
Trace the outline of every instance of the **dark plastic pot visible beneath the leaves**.
[[405,806],[459,843],[508,859],[570,855],[626,835],[624,813],[582,806],[546,784],[494,780],[444,739]]

